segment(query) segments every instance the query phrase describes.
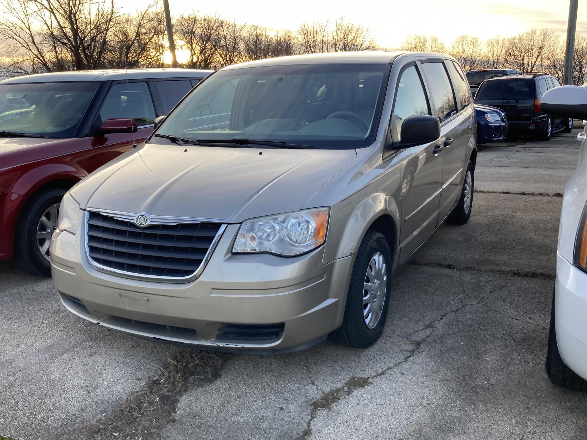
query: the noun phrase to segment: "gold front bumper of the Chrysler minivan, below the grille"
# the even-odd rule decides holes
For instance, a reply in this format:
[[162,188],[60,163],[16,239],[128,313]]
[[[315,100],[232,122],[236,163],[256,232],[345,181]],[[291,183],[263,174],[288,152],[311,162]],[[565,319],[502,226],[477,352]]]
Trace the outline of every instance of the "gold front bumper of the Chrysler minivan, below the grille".
[[[201,275],[188,283],[130,280],[97,272],[74,236],[51,242],[53,284],[64,306],[110,329],[227,351],[294,351],[342,323],[355,256],[323,265],[324,246],[306,255],[234,255],[239,225],[228,225]],[[228,329],[228,330],[227,330]]]

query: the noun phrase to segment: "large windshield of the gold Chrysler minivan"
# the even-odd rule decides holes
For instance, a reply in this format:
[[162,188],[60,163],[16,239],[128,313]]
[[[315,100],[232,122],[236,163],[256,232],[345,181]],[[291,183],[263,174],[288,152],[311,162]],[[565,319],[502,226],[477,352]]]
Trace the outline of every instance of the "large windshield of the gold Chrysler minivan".
[[366,147],[375,137],[388,73],[389,65],[360,64],[220,70],[179,104],[157,134]]

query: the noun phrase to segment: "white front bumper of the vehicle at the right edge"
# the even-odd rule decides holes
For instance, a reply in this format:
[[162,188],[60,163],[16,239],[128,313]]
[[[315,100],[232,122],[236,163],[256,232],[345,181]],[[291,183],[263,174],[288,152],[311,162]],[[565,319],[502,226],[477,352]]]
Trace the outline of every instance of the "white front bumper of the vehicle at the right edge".
[[556,254],[556,343],[564,363],[587,380],[587,273]]

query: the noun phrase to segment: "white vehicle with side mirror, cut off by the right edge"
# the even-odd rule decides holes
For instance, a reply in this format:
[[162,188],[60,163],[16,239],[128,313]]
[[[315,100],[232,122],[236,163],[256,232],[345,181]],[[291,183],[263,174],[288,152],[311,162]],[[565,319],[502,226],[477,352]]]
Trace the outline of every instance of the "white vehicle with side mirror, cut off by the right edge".
[[[587,89],[561,86],[542,97],[548,114],[587,119]],[[585,121],[583,121],[585,122]],[[555,385],[587,391],[587,135],[565,187],[556,252],[556,283],[546,354],[546,374]]]

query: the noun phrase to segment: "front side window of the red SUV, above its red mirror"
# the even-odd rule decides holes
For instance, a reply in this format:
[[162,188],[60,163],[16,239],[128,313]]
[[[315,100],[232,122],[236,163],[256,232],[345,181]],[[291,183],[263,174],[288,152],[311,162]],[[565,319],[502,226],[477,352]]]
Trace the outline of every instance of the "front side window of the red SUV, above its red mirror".
[[149,126],[155,119],[153,99],[147,83],[114,84],[100,110],[100,119],[134,119],[137,126]]

